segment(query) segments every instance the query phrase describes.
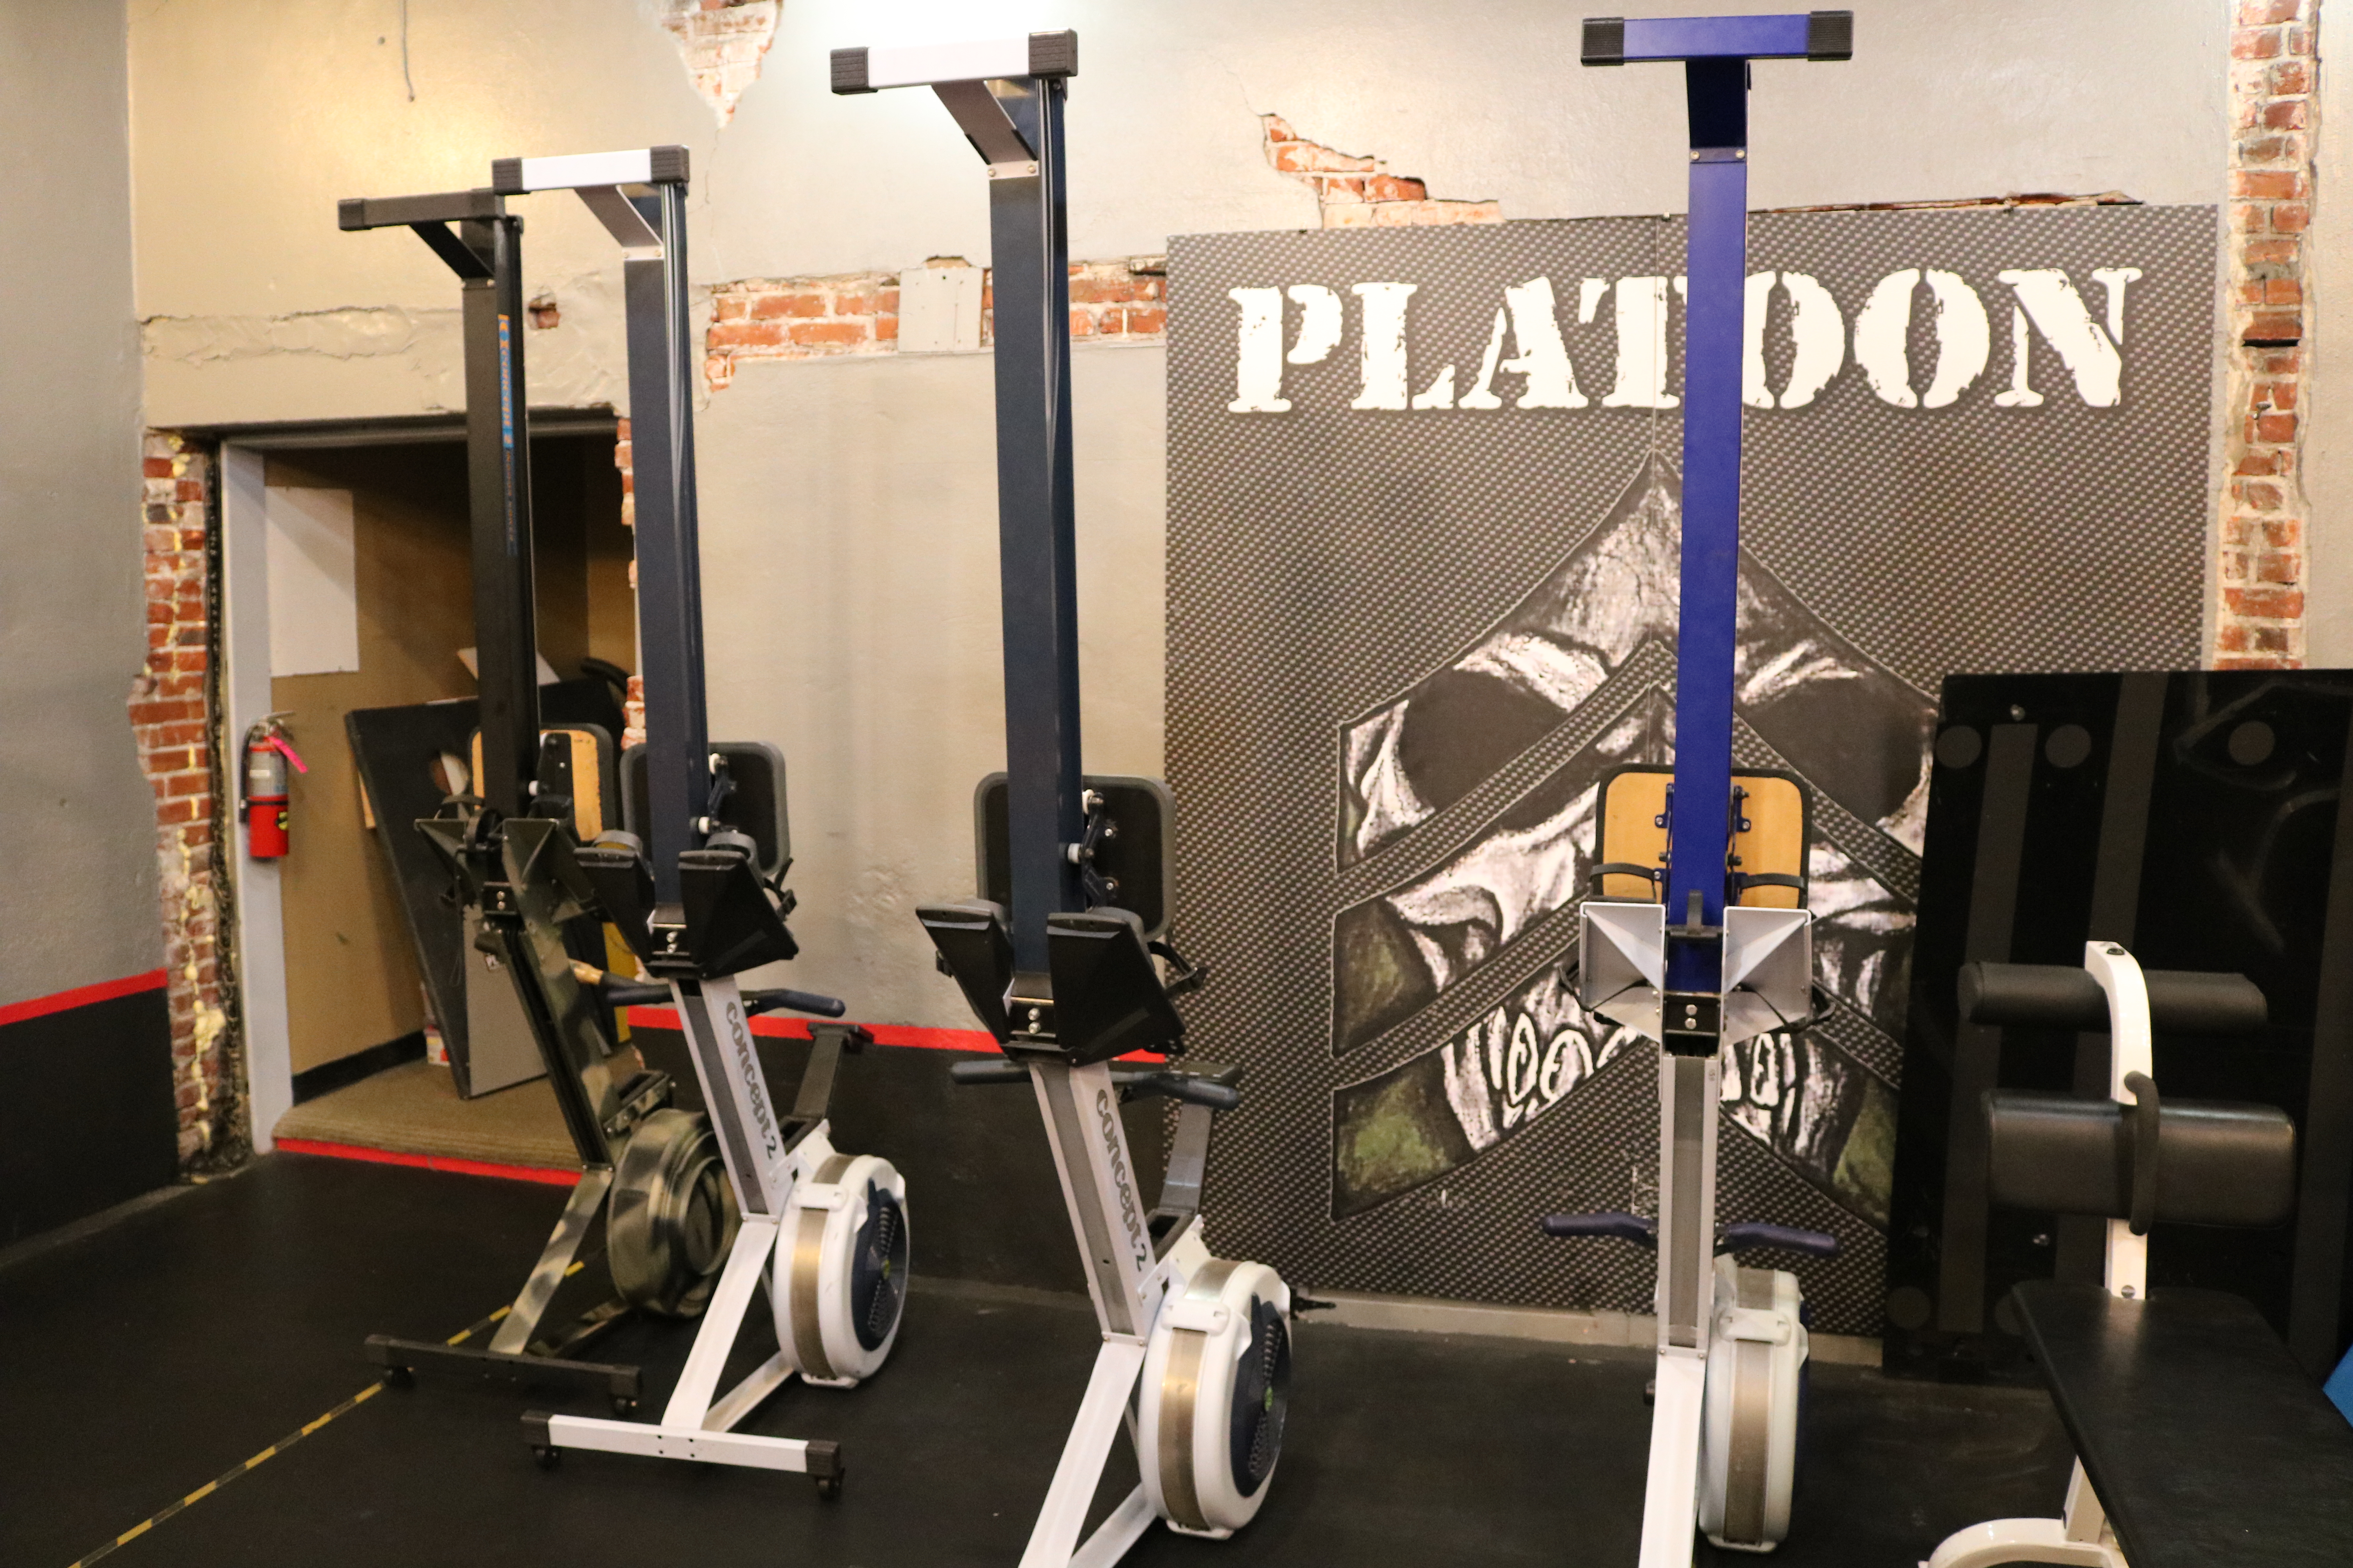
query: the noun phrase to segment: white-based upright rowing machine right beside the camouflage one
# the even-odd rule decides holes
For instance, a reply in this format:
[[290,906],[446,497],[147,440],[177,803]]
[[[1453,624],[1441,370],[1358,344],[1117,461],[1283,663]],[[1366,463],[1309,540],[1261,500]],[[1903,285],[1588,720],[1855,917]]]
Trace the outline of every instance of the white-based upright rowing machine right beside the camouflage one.
[[[871,1037],[819,1023],[793,1107],[776,1114],[751,1039],[760,1001],[840,1016],[805,992],[739,990],[736,976],[798,954],[786,929],[793,893],[784,759],[758,745],[713,745],[704,708],[701,559],[694,498],[694,334],[687,308],[687,153],[638,148],[492,165],[501,195],[574,190],[619,240],[628,315],[638,614],[645,649],[647,743],[624,759],[642,776],[631,820],[645,837],[607,832],[576,856],[593,900],[678,1009],[718,1128],[718,1154],[741,1208],[725,1269],[694,1335],[687,1368],[659,1422],[525,1415],[534,1455],[600,1448],[711,1465],[802,1472],[840,1495],[831,1441],[758,1436],[736,1427],[793,1375],[852,1387],[899,1338],[906,1302],[906,1182],[887,1159],[833,1147],[826,1105],[842,1053]],[[635,992],[631,992],[635,994]],[[628,1215],[614,1215],[621,1234]],[[776,1354],[720,1394],[753,1291],[767,1284]]]

